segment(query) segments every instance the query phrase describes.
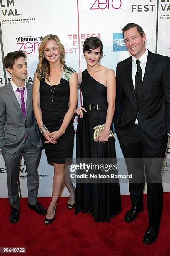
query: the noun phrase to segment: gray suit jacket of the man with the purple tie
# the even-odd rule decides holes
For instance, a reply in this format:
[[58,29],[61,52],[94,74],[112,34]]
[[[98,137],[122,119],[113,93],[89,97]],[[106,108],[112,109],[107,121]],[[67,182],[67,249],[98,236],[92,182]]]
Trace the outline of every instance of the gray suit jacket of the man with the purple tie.
[[28,134],[28,138],[35,147],[42,147],[33,112],[33,86],[26,82],[26,87],[27,104],[25,118],[11,83],[9,82],[5,86],[0,87],[0,148],[6,154],[13,154],[21,148],[25,140],[25,133]]

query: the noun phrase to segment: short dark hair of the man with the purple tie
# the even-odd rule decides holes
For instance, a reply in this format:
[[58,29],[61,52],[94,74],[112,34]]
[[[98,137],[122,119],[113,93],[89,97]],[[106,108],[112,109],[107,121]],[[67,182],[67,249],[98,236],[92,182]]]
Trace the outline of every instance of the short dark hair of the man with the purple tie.
[[27,55],[25,54],[25,51],[19,50],[19,51],[9,52],[3,60],[5,69],[8,69],[8,68],[13,69],[13,64],[15,63],[15,61],[18,61],[20,57],[24,57],[24,59],[27,59]]

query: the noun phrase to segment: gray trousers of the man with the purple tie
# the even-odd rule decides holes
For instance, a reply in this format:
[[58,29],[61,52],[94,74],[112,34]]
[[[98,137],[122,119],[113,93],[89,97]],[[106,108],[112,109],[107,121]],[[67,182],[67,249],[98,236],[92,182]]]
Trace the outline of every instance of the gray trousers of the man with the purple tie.
[[6,154],[3,153],[2,148],[2,154],[7,172],[7,188],[10,205],[18,210],[20,209],[20,198],[18,194],[18,175],[22,154],[28,172],[28,202],[31,205],[35,205],[37,202],[39,187],[37,168],[40,162],[41,149],[33,146],[29,138],[27,138],[23,143],[23,146],[17,152],[13,154]]

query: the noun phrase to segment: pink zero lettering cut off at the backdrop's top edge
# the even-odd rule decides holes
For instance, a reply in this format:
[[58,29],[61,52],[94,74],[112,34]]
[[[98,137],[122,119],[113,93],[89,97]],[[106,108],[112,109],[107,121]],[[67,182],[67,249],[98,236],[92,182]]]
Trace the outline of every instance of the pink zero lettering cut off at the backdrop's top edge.
[[104,9],[110,9],[110,6],[114,9],[120,9],[122,6],[122,1],[117,0],[116,3],[120,2],[120,5],[117,6],[118,4],[115,4],[115,0],[95,0],[92,6],[90,7],[90,10],[104,10]]

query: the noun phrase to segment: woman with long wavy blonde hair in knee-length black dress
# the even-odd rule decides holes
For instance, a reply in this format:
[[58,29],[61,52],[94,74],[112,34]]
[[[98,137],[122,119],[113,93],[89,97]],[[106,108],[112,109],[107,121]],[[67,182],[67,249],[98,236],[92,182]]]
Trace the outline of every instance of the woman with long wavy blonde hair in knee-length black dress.
[[[34,75],[33,104],[47,161],[54,166],[52,200],[45,224],[54,220],[57,199],[63,183],[74,205],[75,188],[65,170],[65,159],[72,157],[74,128],[72,116],[77,104],[77,74],[64,61],[64,47],[56,35],[47,35],[39,47],[39,64]],[[68,204],[69,205],[69,204]],[[69,207],[68,207],[69,208]]]

